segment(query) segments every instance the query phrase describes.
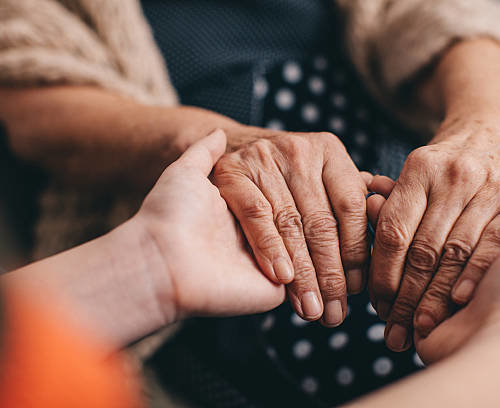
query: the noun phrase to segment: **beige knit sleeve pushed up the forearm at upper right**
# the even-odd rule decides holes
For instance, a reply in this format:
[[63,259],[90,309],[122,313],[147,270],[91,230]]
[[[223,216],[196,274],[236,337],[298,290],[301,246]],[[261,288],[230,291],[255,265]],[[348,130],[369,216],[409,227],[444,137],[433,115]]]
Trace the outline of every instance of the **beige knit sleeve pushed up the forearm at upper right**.
[[488,36],[500,40],[498,0],[337,0],[346,45],[372,93],[400,119],[424,132],[439,118],[403,97],[454,42]]

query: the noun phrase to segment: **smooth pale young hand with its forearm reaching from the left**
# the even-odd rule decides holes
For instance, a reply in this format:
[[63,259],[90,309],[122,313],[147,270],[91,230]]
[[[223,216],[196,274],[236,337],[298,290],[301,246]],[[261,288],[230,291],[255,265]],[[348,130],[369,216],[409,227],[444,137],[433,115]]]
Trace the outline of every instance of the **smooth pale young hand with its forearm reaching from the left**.
[[176,320],[270,310],[285,299],[253,261],[208,175],[224,153],[216,131],[170,165],[139,212],[113,231],[2,276],[56,299],[68,323],[116,350]]

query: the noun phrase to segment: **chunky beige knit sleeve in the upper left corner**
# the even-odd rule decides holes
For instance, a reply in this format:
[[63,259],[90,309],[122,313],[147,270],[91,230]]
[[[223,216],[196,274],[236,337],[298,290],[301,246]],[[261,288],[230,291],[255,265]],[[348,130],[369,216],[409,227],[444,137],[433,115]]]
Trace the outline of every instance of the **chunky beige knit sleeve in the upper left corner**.
[[135,0],[2,0],[0,86],[55,84],[177,102]]

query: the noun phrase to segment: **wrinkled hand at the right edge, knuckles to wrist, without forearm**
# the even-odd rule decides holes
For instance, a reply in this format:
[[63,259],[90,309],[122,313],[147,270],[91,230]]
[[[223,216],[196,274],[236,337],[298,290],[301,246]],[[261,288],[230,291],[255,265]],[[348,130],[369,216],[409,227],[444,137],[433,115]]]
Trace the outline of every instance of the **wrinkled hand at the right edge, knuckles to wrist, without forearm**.
[[370,294],[392,350],[466,304],[500,254],[500,126],[445,123],[408,157],[377,223]]

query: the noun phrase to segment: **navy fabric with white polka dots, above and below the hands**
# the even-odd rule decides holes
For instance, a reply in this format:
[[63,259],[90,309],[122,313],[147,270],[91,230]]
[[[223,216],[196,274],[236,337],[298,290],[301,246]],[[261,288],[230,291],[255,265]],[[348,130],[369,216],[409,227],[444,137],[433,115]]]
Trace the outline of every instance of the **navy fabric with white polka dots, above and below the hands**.
[[[336,53],[287,61],[256,78],[254,97],[263,125],[291,131],[330,131],[362,170],[376,167],[377,144],[398,126],[377,108],[348,63]],[[348,298],[349,313],[335,329],[303,321],[286,304],[259,318],[268,357],[304,393],[337,405],[387,385],[420,367],[414,349],[385,347],[385,323],[363,293]]]

